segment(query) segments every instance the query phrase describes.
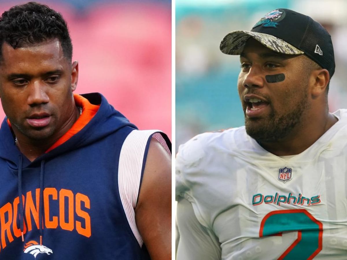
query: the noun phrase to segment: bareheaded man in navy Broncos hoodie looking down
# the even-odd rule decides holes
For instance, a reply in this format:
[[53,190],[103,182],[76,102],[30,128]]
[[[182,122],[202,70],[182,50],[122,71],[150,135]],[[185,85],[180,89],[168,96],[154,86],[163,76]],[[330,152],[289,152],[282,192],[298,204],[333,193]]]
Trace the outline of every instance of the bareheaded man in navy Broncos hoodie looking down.
[[167,136],[73,94],[78,62],[49,7],[4,12],[0,46],[0,259],[171,259]]

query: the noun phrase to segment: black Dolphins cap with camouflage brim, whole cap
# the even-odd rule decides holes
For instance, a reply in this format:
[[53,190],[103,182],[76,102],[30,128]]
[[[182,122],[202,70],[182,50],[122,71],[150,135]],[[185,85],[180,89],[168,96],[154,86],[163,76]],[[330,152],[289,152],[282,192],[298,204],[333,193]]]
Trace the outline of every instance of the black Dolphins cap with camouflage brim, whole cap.
[[327,69],[330,78],[335,72],[331,36],[309,16],[289,9],[273,10],[264,15],[251,31],[228,33],[220,43],[220,50],[225,54],[239,55],[249,37],[275,52],[307,55]]

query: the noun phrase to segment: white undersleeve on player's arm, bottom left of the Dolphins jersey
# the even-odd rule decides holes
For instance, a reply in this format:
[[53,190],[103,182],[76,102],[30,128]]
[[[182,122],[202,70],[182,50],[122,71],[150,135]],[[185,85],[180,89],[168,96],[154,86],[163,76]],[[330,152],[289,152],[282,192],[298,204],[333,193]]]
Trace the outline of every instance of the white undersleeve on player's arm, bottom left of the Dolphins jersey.
[[221,259],[221,248],[213,231],[197,220],[192,204],[180,198],[176,215],[176,260]]

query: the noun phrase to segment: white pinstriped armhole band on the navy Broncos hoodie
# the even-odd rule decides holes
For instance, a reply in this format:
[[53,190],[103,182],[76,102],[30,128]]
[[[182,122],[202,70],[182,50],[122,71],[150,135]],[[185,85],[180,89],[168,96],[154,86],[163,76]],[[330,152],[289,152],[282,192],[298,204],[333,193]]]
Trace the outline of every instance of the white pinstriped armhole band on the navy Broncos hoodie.
[[[120,200],[130,228],[140,246],[143,244],[143,239],[135,223],[134,209],[136,207],[141,183],[146,145],[151,135],[158,131],[159,130],[133,130],[126,137],[119,156],[118,187]],[[160,134],[156,135],[155,139],[159,138],[159,136],[161,137]],[[162,137],[161,139],[164,141]],[[162,142],[160,141],[160,143]]]

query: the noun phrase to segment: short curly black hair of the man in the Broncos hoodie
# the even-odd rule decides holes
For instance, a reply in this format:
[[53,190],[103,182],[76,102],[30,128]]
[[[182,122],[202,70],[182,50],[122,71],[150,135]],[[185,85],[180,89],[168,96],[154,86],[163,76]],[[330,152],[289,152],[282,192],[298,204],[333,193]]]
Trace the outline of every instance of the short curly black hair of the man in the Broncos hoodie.
[[52,39],[59,40],[64,56],[71,61],[71,38],[60,13],[46,5],[28,2],[11,7],[0,17],[0,46],[8,43],[16,49]]

